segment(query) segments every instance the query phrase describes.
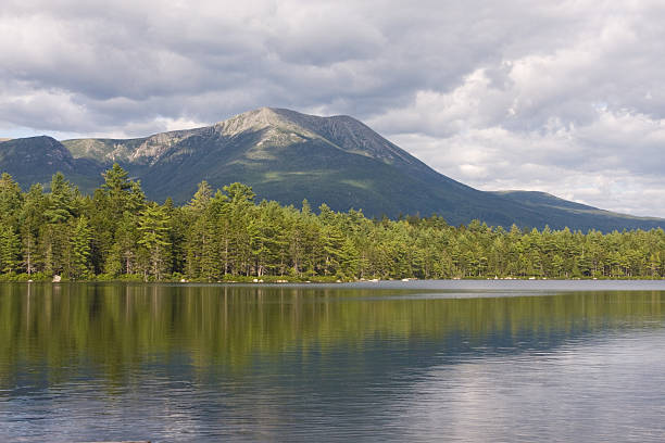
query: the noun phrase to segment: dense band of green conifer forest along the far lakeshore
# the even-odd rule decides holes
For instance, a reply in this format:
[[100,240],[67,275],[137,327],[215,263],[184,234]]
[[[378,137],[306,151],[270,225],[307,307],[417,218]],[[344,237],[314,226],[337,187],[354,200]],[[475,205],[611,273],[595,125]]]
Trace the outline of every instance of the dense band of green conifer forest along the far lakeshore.
[[58,173],[48,191],[0,178],[2,279],[229,281],[388,278],[663,278],[665,232],[453,227],[254,201],[203,181],[181,207],[150,202],[114,165],[92,195]]

